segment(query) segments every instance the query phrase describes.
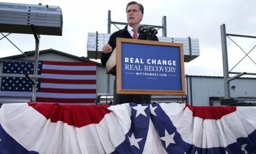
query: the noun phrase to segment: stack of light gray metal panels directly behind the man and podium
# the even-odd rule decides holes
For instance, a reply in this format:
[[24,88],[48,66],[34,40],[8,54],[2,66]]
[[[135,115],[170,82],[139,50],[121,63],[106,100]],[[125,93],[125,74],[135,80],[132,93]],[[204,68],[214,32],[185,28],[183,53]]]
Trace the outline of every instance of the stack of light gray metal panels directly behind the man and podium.
[[[98,40],[98,51],[102,51],[102,47],[109,41],[111,34],[107,33],[98,33],[98,37],[96,38],[96,33],[88,33],[88,40],[87,40],[87,51],[88,57],[91,59],[96,58],[93,57],[96,54],[91,54],[91,52],[96,51],[96,39]],[[183,44],[184,49],[184,60],[185,62],[190,62],[193,59],[196,59],[200,55],[199,51],[199,39],[191,39],[191,46],[189,46],[189,38],[170,38],[170,37],[159,37],[159,41],[169,42],[169,43],[181,43]],[[97,59],[99,58],[97,54]]]

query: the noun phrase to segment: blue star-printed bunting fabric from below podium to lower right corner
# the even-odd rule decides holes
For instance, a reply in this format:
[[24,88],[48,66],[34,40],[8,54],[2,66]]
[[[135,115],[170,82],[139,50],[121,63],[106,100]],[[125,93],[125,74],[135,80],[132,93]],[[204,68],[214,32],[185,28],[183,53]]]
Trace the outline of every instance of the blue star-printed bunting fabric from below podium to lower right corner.
[[[154,127],[160,137],[163,148],[167,153],[234,153],[234,154],[244,154],[244,153],[256,153],[256,131],[249,134],[248,137],[240,137],[237,142],[228,145],[227,147],[212,147],[212,148],[201,148],[195,145],[184,142],[182,136],[177,131],[173,125],[170,118],[167,116],[165,111],[162,110],[158,103],[153,103],[152,107],[155,108],[154,112],[157,116],[150,113],[149,104],[142,105],[147,107],[144,111],[147,116],[142,114],[138,115],[136,118],[136,110],[133,107],[137,105],[130,103],[131,106],[131,128],[128,134],[126,134],[125,141],[118,145],[115,152],[113,153],[143,153],[144,145],[146,143],[147,131],[149,127],[149,118],[151,118]],[[139,148],[131,145],[129,137],[134,134],[136,139],[142,138],[138,142]],[[171,142],[166,143],[164,137],[170,137]],[[199,139],[201,140],[201,139]]]

